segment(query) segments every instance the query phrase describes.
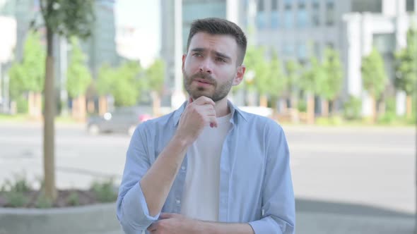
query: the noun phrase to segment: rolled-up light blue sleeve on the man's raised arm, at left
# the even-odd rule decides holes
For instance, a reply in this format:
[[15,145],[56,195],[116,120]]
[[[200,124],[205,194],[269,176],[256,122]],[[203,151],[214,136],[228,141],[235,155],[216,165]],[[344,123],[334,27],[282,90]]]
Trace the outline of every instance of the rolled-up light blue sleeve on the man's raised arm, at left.
[[145,124],[136,128],[127,149],[122,183],[117,197],[117,218],[124,233],[136,234],[146,230],[159,215],[150,216],[148,204],[139,181],[151,167],[146,149]]

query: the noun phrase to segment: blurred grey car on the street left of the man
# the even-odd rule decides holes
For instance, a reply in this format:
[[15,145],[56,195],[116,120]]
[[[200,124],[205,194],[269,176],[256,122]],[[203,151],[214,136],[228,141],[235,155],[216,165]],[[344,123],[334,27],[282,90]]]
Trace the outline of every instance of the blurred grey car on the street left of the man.
[[99,133],[127,133],[133,135],[137,125],[152,118],[148,106],[122,107],[103,116],[88,118],[87,130],[91,135]]

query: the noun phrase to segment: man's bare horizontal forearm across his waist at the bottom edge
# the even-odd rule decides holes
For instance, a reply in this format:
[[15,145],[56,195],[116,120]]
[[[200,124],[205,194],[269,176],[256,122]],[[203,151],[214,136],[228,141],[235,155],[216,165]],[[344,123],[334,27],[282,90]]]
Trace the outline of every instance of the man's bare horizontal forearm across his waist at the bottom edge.
[[248,223],[216,223],[199,221],[200,234],[254,234]]

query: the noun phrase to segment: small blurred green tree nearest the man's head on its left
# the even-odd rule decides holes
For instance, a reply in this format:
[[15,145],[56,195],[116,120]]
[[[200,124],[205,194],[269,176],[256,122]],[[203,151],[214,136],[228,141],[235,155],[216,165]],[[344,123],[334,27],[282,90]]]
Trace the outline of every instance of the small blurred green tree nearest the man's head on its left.
[[151,89],[153,101],[153,116],[160,115],[160,97],[163,95],[165,64],[163,60],[156,59],[148,69],[146,69],[146,80]]

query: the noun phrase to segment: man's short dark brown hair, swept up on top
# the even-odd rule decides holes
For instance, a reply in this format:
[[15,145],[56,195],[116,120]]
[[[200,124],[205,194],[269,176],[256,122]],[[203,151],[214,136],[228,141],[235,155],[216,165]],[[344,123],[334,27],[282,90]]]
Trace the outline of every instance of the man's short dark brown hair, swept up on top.
[[242,32],[242,29],[240,29],[240,27],[235,23],[222,18],[204,18],[194,20],[191,25],[191,29],[189,30],[187,51],[192,37],[194,37],[197,32],[206,32],[211,35],[230,35],[235,37],[237,47],[240,49],[240,53],[237,54],[237,63],[239,65],[243,63],[243,58],[245,58],[246,54],[246,36],[245,33]]

